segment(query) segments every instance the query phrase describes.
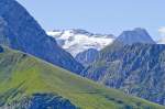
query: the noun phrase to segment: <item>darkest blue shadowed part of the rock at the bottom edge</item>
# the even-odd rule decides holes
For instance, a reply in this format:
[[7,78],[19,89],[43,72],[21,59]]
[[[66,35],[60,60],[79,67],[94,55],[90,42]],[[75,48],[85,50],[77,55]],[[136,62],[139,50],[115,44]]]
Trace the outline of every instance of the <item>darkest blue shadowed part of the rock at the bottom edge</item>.
[[29,109],[77,109],[69,100],[59,96],[35,94]]

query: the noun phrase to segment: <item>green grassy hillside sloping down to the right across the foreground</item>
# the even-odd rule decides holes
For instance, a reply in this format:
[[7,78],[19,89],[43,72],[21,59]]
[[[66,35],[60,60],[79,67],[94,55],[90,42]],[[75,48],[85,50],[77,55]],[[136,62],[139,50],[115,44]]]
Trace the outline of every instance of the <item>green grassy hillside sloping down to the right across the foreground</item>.
[[[10,94],[11,89],[16,92]],[[6,97],[10,103],[33,94],[57,94],[82,109],[165,108],[97,85],[24,53],[3,48],[0,52],[0,95],[3,95],[0,99]]]

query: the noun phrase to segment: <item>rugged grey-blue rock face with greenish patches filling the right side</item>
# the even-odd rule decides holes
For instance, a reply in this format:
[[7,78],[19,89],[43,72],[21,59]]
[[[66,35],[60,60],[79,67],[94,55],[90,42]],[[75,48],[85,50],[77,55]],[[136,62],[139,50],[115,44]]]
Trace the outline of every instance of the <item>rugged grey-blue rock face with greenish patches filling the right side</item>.
[[81,74],[106,86],[165,105],[165,45],[111,45]]

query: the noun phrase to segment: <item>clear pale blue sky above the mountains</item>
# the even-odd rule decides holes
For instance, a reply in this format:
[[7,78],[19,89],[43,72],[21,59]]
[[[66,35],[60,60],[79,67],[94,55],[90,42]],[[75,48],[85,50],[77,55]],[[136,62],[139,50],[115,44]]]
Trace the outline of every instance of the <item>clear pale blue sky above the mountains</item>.
[[165,0],[18,0],[45,30],[85,29],[119,35],[144,28],[154,37],[165,26]]

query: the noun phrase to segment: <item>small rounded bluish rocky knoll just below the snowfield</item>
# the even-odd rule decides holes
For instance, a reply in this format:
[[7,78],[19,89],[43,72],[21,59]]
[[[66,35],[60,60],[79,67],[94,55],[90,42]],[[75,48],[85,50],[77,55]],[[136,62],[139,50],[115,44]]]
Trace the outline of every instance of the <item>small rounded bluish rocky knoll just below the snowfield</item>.
[[94,63],[99,56],[99,51],[95,48],[89,48],[85,52],[81,52],[76,55],[76,61],[82,64],[84,66],[88,66]]

